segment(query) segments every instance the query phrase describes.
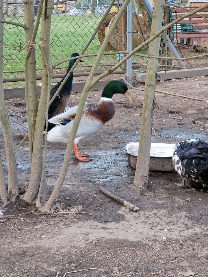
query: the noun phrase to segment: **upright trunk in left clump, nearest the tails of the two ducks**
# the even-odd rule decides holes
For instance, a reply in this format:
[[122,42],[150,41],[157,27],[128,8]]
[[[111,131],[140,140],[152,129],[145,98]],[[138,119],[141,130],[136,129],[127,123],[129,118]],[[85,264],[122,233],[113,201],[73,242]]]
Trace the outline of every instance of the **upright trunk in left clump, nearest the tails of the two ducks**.
[[42,143],[45,118],[47,113],[47,101],[49,89],[51,86],[51,51],[50,51],[50,29],[53,0],[45,1],[41,23],[41,48],[42,48],[42,87],[38,113],[36,118],[34,141],[33,141],[33,158],[31,162],[31,174],[28,189],[23,197],[24,205],[32,203],[35,199],[42,174]]

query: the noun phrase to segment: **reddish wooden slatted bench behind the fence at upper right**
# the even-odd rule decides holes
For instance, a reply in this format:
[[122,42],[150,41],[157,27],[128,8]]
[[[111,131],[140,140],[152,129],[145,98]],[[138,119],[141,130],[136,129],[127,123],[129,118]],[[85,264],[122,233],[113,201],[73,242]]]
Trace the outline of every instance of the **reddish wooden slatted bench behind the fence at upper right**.
[[[190,11],[204,5],[205,2],[192,2],[191,5],[186,5],[185,8]],[[186,14],[188,11],[183,8],[172,8],[173,19],[179,18],[181,15]],[[177,29],[175,25],[174,40],[179,43],[177,39],[180,39],[180,44],[192,45],[196,40],[197,45],[200,47],[208,47],[208,20],[200,17],[200,15],[208,18],[208,8],[200,11],[198,14],[194,14],[189,18],[185,18],[177,23]],[[186,43],[185,43],[186,40]]]

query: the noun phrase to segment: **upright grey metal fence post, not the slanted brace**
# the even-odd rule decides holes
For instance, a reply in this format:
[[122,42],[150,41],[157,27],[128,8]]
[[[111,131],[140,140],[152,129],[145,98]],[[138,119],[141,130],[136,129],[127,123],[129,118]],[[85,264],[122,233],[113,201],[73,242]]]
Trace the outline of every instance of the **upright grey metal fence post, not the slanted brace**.
[[[132,0],[127,6],[127,51],[132,51]],[[132,56],[127,60],[127,82],[132,86]]]

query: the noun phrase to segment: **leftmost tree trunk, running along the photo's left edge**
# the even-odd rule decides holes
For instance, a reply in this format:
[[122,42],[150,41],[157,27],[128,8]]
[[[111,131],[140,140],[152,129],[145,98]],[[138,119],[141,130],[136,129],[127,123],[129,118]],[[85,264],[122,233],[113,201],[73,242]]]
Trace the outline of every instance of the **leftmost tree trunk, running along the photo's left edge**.
[[[0,19],[3,19],[2,1],[0,1]],[[0,121],[3,128],[5,149],[6,149],[6,156],[7,156],[9,197],[11,201],[15,203],[17,200],[18,185],[17,185],[16,163],[15,163],[14,147],[13,147],[13,135],[12,135],[9,117],[5,108],[4,94],[3,94],[3,23],[0,23]],[[5,182],[2,180],[3,187],[4,187],[4,183]],[[4,200],[7,201],[8,197],[5,194],[5,189],[3,189],[3,194],[4,194],[3,196]]]

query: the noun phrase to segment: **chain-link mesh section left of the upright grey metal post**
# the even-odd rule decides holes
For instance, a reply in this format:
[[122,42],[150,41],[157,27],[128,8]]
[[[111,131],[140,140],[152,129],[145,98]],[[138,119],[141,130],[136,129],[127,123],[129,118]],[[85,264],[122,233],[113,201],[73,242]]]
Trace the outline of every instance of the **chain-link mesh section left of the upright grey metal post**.
[[[68,1],[54,5],[51,18],[51,59],[52,63],[69,58],[73,52],[81,53],[81,50],[90,39],[94,29],[97,27],[103,14],[107,10],[110,1],[99,0],[97,2],[87,0]],[[24,23],[24,7],[22,0],[4,0],[4,19],[18,23]],[[34,15],[36,19],[38,10],[38,0],[34,1]],[[116,15],[121,1],[117,1],[112,7],[108,23],[112,15]],[[41,23],[40,23],[41,25]],[[11,27],[12,26],[12,27]],[[41,27],[41,26],[40,26]],[[40,41],[40,27],[37,33],[36,41]],[[115,40],[117,44],[122,44],[122,34],[115,30]],[[118,36],[120,40],[118,41]],[[100,45],[105,38],[105,27],[103,26],[99,34],[91,42],[86,50],[87,53],[98,53]],[[14,27],[14,25],[4,24],[4,78],[14,78],[24,76],[24,29]],[[112,39],[114,42],[114,39]],[[108,47],[107,52],[116,51],[116,47]],[[120,57],[116,55],[103,56],[98,71],[107,70],[114,65]],[[78,64],[75,72],[89,72],[93,65],[95,57],[86,57],[85,63]],[[64,73],[68,67],[68,62],[59,65],[54,74]],[[121,69],[121,68],[120,68]],[[41,53],[36,49],[36,70],[37,75],[41,75]]]

